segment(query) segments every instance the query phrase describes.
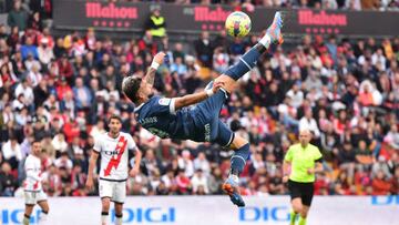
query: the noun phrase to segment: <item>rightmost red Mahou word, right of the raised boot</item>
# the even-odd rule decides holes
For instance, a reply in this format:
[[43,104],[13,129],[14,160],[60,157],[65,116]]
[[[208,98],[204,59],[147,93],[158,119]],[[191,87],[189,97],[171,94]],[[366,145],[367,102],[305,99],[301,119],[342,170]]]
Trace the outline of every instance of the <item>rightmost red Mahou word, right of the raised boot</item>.
[[320,11],[319,13],[317,13],[311,10],[299,10],[298,23],[300,25],[348,25],[346,14],[327,13],[326,11]]

